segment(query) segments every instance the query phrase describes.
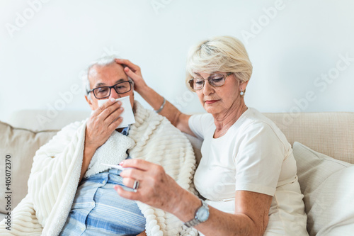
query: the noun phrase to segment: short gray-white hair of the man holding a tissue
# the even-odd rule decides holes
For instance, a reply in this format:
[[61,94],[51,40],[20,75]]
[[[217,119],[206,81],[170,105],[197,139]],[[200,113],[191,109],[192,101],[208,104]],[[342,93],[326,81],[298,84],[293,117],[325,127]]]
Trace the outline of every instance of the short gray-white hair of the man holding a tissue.
[[[89,67],[87,67],[82,72],[81,80],[82,80],[83,85],[84,85],[84,93],[85,93],[85,95],[87,95],[88,99],[91,100],[91,93],[87,94],[87,91],[91,90],[90,80],[89,80],[89,72],[90,72],[91,68],[96,66],[96,65],[101,66],[101,67],[105,67],[105,66],[108,66],[110,64],[117,63],[117,62],[115,62],[116,58],[119,58],[119,57],[116,56],[116,55],[110,55],[110,56],[101,57],[100,59],[91,62],[91,64],[89,64]],[[132,82],[132,89],[134,89],[134,81],[132,79],[130,79],[130,77],[128,77],[128,79]]]

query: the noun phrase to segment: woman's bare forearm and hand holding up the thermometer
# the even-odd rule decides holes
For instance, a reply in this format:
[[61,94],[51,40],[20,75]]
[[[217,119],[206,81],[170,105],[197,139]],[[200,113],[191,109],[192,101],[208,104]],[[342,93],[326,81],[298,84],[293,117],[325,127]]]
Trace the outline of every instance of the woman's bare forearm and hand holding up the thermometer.
[[[120,196],[166,210],[183,222],[194,218],[195,210],[201,206],[200,199],[182,189],[163,167],[142,159],[127,159],[121,165],[135,168],[123,171],[120,176],[130,187],[138,180],[139,189],[134,193],[117,186]],[[195,228],[205,235],[263,235],[271,201],[272,196],[263,193],[236,191],[234,214],[210,206],[209,219]]]

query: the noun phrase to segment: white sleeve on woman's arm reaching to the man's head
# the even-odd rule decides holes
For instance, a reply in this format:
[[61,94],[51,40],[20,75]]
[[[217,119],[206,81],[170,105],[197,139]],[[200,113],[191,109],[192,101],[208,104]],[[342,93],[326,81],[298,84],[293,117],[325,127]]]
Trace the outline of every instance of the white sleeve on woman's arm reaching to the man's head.
[[210,128],[212,124],[214,124],[214,118],[209,113],[193,115],[188,120],[190,130],[202,140],[204,140],[207,128]]

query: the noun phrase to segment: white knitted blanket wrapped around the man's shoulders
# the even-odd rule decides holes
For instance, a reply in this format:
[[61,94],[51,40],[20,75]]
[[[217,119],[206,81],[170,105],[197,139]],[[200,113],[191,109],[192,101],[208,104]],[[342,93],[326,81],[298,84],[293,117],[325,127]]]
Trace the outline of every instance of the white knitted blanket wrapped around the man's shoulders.
[[[161,164],[183,189],[193,191],[195,157],[187,137],[169,120],[143,108],[137,101],[135,120],[127,137],[114,133],[96,150],[85,176],[109,168],[101,162],[118,164],[129,149],[130,157]],[[11,231],[1,221],[0,235],[59,235],[78,187],[85,129],[86,120],[72,123],[40,147],[33,159],[28,194],[11,212]],[[112,152],[111,147],[117,151]],[[137,204],[147,219],[148,236],[198,235],[197,230],[183,226],[171,213],[139,201]]]

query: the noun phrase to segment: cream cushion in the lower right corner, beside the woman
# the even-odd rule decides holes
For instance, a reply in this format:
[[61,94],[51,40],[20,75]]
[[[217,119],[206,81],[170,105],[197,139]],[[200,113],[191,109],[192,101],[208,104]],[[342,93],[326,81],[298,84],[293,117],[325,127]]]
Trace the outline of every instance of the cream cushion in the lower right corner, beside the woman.
[[309,235],[354,232],[354,165],[294,142]]

